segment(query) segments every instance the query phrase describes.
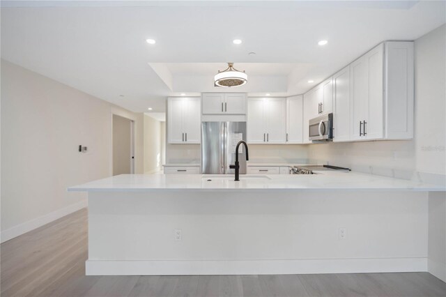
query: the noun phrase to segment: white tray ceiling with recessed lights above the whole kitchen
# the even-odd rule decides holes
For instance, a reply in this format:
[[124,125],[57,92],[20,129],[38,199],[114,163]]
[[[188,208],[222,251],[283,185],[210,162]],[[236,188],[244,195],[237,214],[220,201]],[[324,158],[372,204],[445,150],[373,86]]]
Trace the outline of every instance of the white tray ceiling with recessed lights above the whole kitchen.
[[[231,91],[304,93],[381,41],[415,40],[446,21],[444,1],[1,6],[1,58],[134,112],[163,112],[166,96],[220,91],[213,75],[229,61],[249,75],[246,86]],[[146,38],[157,43],[148,45]],[[243,43],[233,45],[234,38]],[[318,46],[321,39],[328,45]]]

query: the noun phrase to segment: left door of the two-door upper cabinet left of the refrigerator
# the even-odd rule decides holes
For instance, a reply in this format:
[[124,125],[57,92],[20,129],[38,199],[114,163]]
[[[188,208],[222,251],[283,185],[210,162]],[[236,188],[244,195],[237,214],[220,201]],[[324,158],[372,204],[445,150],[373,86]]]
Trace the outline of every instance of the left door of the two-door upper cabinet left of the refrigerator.
[[185,98],[169,98],[167,100],[169,144],[181,144],[184,141],[183,106]]

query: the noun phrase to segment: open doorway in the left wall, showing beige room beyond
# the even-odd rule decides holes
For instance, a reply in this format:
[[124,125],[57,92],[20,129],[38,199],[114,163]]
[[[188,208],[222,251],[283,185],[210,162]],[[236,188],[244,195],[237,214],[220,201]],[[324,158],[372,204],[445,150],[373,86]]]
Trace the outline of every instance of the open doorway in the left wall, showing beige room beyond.
[[113,175],[134,174],[134,121],[113,115]]

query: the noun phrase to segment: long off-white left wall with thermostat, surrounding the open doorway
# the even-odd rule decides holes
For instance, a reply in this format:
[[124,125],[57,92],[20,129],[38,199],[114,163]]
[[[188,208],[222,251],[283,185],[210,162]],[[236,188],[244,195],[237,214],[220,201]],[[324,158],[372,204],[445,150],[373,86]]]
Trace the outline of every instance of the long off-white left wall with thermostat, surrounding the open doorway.
[[112,113],[135,120],[142,172],[141,114],[1,60],[1,241],[86,206],[66,188],[112,174]]

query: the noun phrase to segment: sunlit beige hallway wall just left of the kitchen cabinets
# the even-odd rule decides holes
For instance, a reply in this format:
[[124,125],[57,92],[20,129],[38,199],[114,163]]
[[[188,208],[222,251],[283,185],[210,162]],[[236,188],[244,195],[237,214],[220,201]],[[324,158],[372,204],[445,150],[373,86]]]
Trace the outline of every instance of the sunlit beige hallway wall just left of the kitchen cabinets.
[[[164,130],[163,130],[164,128]],[[144,115],[144,173],[162,169],[164,158],[165,124]]]

